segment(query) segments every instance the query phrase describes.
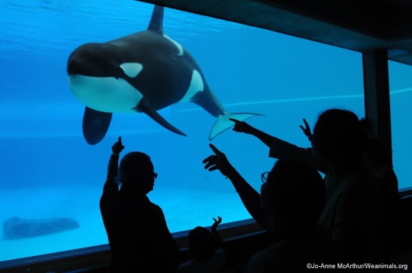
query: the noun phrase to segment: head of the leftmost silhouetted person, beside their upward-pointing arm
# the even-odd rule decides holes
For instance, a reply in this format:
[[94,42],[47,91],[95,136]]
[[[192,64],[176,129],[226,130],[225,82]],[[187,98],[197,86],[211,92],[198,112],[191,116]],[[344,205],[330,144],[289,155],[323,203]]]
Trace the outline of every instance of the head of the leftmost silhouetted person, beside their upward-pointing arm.
[[130,152],[124,155],[119,166],[122,186],[147,194],[153,189],[157,173],[146,153]]

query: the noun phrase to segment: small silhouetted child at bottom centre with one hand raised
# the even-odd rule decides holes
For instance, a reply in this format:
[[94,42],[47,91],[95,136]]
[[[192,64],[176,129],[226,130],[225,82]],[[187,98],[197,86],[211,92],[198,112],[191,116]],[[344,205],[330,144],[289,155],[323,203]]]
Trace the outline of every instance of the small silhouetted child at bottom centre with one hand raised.
[[211,230],[196,226],[190,230],[189,241],[190,260],[179,265],[177,273],[218,273],[226,265],[226,254],[223,241],[217,227],[222,217],[214,218]]

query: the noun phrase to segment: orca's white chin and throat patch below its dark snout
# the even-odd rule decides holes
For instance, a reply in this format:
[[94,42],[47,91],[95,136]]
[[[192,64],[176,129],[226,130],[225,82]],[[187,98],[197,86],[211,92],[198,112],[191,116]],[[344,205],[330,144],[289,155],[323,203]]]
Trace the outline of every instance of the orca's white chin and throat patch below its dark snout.
[[69,87],[84,105],[102,112],[135,112],[143,95],[122,78],[70,75]]

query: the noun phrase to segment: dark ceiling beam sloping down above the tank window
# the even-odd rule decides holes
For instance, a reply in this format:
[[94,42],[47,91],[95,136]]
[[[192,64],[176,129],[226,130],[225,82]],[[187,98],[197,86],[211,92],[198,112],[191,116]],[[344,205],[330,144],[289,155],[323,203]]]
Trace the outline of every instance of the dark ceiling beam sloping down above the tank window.
[[409,0],[144,0],[412,65]]

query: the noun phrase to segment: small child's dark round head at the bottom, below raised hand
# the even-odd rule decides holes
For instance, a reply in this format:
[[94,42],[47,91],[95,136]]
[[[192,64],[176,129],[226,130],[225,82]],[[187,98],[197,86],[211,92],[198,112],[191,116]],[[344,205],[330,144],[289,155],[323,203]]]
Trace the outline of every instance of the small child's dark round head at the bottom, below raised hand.
[[188,235],[190,257],[196,261],[211,259],[217,249],[216,237],[207,228],[196,226]]

